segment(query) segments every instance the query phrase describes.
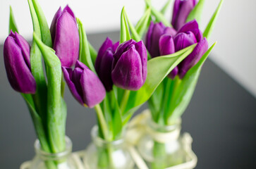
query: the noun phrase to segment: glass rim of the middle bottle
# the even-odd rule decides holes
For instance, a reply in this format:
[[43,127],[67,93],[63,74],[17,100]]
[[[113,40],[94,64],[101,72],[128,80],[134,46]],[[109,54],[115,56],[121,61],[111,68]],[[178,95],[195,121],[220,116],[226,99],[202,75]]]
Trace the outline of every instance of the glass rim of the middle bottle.
[[91,131],[91,137],[92,137],[92,142],[95,143],[97,146],[121,146],[123,144],[124,139],[123,137],[121,139],[116,139],[116,140],[105,140],[99,137],[99,127],[95,125],[92,127]]

